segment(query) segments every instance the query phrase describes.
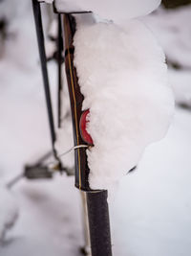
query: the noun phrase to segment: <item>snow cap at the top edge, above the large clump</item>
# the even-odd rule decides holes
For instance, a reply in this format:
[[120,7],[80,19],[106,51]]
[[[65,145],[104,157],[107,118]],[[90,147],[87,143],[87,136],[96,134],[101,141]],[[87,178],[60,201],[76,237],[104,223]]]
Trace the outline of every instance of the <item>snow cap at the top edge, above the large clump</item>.
[[159,4],[160,0],[55,0],[59,12],[91,11],[115,22],[146,15],[157,9]]

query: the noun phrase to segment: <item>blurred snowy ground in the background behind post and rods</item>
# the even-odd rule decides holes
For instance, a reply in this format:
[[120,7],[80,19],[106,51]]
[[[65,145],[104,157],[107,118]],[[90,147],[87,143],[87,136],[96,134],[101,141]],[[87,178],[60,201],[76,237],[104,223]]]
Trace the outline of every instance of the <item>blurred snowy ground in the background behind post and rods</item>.
[[[165,139],[147,148],[138,170],[124,177],[110,203],[118,256],[191,255],[191,5],[183,0],[163,4],[142,20],[165,51],[176,112]],[[43,8],[46,31],[48,12]],[[49,54],[52,50],[48,45]],[[55,101],[53,60],[49,73]],[[0,255],[79,255],[83,237],[74,177],[22,180],[11,195],[3,189],[26,163],[51,149],[30,1],[0,1],[0,88],[0,233],[5,209],[12,207],[16,218],[12,205],[19,208]]]

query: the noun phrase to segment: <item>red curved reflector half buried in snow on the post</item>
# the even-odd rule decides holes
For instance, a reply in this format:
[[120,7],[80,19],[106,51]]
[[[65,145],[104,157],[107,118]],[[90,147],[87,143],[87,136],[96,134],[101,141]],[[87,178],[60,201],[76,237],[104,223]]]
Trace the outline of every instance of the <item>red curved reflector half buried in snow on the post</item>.
[[91,137],[91,135],[88,133],[88,131],[86,130],[87,128],[87,124],[88,124],[88,120],[87,120],[87,115],[90,113],[89,109],[85,110],[81,117],[80,117],[80,121],[79,121],[79,128],[80,128],[80,133],[81,133],[81,137],[82,139],[87,142],[89,145],[93,145],[93,139]]

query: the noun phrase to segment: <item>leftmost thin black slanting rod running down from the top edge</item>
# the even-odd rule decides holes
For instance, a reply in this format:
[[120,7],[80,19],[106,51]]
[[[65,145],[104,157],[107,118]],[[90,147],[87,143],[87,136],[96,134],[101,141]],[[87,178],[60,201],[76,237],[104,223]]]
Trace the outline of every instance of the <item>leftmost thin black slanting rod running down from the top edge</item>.
[[53,123],[53,107],[52,107],[49,77],[48,77],[48,71],[47,71],[47,58],[45,53],[40,3],[37,0],[32,0],[32,8],[33,8],[33,16],[34,16],[34,22],[35,22],[37,41],[38,41],[38,50],[39,50],[39,56],[40,56],[40,62],[41,62],[41,70],[42,70],[43,83],[44,83],[44,89],[45,89],[46,103],[47,103],[47,109],[48,109],[52,146],[53,146],[53,152],[55,153],[55,150],[54,150],[55,130],[54,130],[54,123]]

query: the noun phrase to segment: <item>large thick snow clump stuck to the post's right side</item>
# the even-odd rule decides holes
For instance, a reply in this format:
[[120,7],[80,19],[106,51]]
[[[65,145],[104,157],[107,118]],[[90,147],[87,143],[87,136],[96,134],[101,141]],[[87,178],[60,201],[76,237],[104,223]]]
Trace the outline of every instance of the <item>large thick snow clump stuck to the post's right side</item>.
[[87,151],[90,186],[105,189],[165,135],[174,99],[164,55],[141,22],[96,23],[92,14],[76,21],[74,63],[95,144]]

